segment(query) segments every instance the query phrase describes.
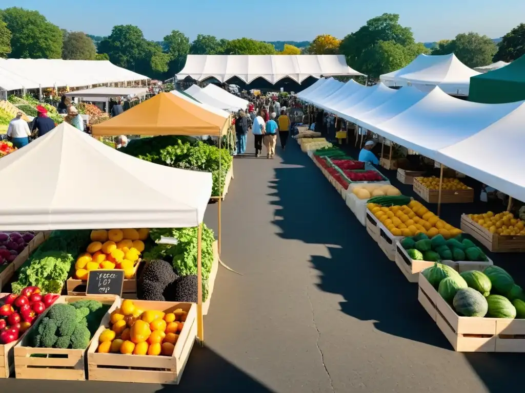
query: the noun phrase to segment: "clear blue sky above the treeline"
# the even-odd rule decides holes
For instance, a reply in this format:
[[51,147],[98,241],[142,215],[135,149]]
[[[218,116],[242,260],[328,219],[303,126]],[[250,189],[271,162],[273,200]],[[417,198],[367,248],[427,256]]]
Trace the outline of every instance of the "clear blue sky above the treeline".
[[[433,5],[430,5],[432,3]],[[268,15],[267,4],[275,4]],[[435,5],[434,5],[435,4]],[[385,12],[401,15],[417,41],[454,38],[475,31],[490,38],[505,35],[525,22],[523,0],[2,0],[0,7],[36,9],[51,22],[72,31],[104,36],[114,25],[139,26],[150,40],[171,30],[190,39],[197,34],[218,38],[249,37],[265,41],[311,40],[319,34],[343,38],[367,19]],[[276,11],[279,15],[276,16]]]

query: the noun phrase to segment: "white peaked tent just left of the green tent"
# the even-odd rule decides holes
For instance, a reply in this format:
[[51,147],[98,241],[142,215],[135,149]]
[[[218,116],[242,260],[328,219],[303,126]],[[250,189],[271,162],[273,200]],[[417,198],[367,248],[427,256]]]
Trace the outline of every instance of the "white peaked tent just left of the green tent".
[[381,75],[387,86],[413,85],[419,90],[430,91],[439,86],[445,93],[468,95],[470,77],[479,72],[460,62],[454,53],[443,56],[420,54],[406,67]]

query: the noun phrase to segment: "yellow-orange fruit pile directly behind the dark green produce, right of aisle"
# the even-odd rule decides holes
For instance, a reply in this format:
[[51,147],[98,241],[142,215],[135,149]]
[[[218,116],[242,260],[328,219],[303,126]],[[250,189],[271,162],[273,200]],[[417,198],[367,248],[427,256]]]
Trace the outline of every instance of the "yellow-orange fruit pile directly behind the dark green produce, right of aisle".
[[449,239],[462,232],[440,220],[423,204],[414,200],[403,206],[387,207],[369,203],[366,207],[393,236],[415,236],[422,232],[429,238],[442,235],[445,239]]

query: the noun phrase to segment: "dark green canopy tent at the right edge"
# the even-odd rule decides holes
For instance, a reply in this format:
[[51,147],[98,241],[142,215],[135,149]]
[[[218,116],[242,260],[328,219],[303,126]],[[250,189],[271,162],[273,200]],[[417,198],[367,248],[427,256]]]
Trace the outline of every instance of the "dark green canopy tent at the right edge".
[[505,67],[471,77],[468,100],[484,104],[525,100],[525,55]]

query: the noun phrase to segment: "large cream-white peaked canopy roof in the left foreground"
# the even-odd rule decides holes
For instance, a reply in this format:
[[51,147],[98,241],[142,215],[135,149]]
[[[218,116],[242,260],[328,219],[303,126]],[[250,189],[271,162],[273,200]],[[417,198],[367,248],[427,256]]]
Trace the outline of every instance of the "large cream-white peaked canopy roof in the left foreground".
[[[108,170],[118,181],[81,191]],[[17,184],[0,205],[4,231],[197,226],[212,193],[211,173],[143,161],[67,123],[2,158],[0,176]]]

